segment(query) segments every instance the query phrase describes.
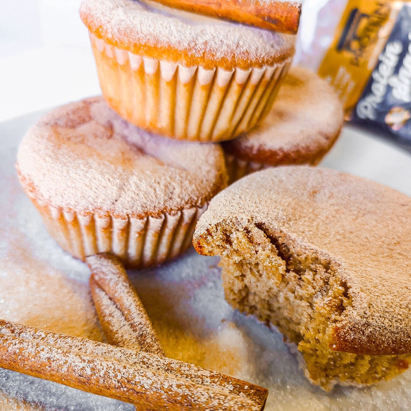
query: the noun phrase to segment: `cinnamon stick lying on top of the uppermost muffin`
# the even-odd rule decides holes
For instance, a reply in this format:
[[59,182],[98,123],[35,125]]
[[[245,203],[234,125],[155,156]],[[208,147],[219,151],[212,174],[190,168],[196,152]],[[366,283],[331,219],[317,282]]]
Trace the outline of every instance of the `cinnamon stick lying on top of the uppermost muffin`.
[[155,0],[166,6],[225,18],[277,32],[296,34],[301,1],[281,0]]

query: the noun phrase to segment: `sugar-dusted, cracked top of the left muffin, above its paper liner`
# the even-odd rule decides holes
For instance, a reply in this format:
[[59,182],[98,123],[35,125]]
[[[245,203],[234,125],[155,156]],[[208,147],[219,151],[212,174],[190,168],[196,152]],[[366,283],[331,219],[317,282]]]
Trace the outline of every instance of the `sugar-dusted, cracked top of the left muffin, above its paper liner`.
[[219,145],[145,132],[102,97],[58,107],[30,128],[17,168],[38,199],[66,211],[144,218],[203,206],[226,185]]

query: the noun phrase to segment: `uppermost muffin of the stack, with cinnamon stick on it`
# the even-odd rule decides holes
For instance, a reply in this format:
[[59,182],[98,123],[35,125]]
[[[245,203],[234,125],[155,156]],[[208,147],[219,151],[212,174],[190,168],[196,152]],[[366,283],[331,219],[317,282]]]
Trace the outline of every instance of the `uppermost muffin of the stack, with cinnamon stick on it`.
[[180,140],[222,141],[262,118],[294,37],[143,0],[83,0],[103,96],[126,120]]

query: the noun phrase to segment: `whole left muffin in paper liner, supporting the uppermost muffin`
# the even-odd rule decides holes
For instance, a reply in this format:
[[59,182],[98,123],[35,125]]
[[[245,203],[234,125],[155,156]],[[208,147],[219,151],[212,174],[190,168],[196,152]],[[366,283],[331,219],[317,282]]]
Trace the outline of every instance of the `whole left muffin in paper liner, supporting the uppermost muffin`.
[[102,97],[44,115],[21,142],[17,161],[25,192],[63,249],[82,260],[111,252],[129,267],[185,251],[227,178],[219,145],[144,132]]

